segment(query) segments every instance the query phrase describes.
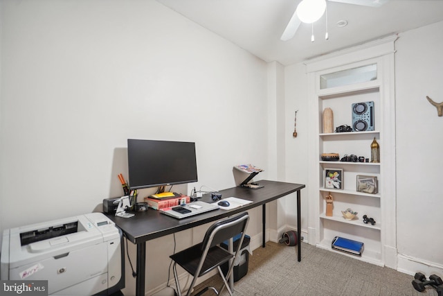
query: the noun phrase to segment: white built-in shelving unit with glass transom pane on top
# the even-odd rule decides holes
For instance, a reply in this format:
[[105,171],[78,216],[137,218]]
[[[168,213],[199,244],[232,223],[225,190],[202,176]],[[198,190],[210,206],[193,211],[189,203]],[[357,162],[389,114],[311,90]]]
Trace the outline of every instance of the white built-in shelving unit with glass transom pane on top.
[[[392,44],[390,44],[392,42]],[[383,45],[381,45],[383,44]],[[366,55],[335,56],[307,64],[309,80],[309,114],[315,123],[309,137],[309,243],[332,252],[335,236],[364,243],[361,256],[356,259],[377,265],[396,267],[395,243],[395,116],[392,78],[392,39],[386,44],[374,44],[374,56],[363,48]],[[379,52],[379,50],[381,52]],[[385,52],[386,51],[386,52]],[[356,52],[359,52],[358,50]],[[385,54],[382,54],[385,53]],[[368,57],[369,56],[369,57]],[[352,57],[352,58],[350,58]],[[353,60],[352,60],[353,59]],[[331,108],[334,131],[339,125],[352,126],[352,104],[374,102],[372,114],[374,130],[358,132],[323,132],[323,111]],[[394,137],[394,140],[392,140]],[[328,162],[322,153],[356,155],[371,159],[373,139],[380,145],[381,162]],[[394,155],[394,159],[392,159]],[[325,188],[325,170],[343,172],[341,188]],[[357,175],[377,177],[377,193],[357,191]],[[326,216],[325,196],[334,198],[333,216]],[[354,220],[345,220],[341,211],[357,211]],[[363,215],[374,218],[375,225],[363,223]],[[393,238],[392,238],[393,237]]]

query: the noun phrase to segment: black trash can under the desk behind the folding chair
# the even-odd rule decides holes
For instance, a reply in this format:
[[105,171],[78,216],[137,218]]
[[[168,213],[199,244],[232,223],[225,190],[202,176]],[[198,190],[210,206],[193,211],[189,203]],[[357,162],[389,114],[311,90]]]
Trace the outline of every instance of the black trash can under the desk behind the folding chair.
[[[241,238],[241,234],[237,234],[233,238],[233,244],[234,244],[234,250],[237,250],[239,240]],[[248,235],[244,235],[242,247],[239,250],[239,259],[235,259],[234,262],[234,281],[238,281],[242,277],[248,273],[248,262],[249,262],[249,242],[251,241],[251,237]],[[221,247],[223,247],[225,250],[228,250],[228,241],[224,241],[220,244]],[[223,271],[224,275],[226,276],[228,274],[228,262],[221,265],[221,271]]]

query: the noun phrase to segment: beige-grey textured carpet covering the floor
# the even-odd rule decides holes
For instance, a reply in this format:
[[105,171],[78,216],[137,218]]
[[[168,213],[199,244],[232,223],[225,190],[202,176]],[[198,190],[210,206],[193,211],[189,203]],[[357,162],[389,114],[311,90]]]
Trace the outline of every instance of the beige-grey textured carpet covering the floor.
[[[429,276],[429,275],[427,275]],[[415,295],[437,296],[433,288],[417,292],[413,277],[390,268],[352,259],[302,243],[302,261],[296,247],[266,243],[249,256],[248,274],[235,282],[235,296],[251,295]],[[221,286],[219,275],[194,290]],[[215,295],[208,290],[204,295]],[[222,295],[228,295],[226,289]]]

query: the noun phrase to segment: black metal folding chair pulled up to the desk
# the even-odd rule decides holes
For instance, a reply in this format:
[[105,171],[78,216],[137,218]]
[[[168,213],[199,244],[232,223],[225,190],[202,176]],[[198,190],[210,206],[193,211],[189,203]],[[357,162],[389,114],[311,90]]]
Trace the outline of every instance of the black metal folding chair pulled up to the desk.
[[[197,279],[214,268],[219,270],[224,285],[221,286],[220,291],[217,291],[214,287],[206,287],[196,295],[201,295],[201,293],[204,293],[209,288],[214,290],[215,294],[219,295],[224,287],[228,289],[229,295],[233,295],[226,279],[230,277],[230,274],[233,271],[235,257],[240,255],[239,250],[242,248],[244,233],[248,226],[248,221],[249,215],[247,212],[225,220],[220,220],[209,227],[203,242],[170,256],[174,261],[174,278],[179,296],[181,296],[181,289],[179,285],[179,277],[177,275],[177,264],[194,277],[188,289],[188,293],[186,294],[187,296],[191,295],[192,288],[194,288]],[[231,254],[219,246],[219,243],[233,238],[237,234],[242,234],[242,236],[240,237],[237,250],[235,250],[234,254]],[[221,271],[220,265],[228,261],[230,261],[230,264],[225,277],[224,273]]]

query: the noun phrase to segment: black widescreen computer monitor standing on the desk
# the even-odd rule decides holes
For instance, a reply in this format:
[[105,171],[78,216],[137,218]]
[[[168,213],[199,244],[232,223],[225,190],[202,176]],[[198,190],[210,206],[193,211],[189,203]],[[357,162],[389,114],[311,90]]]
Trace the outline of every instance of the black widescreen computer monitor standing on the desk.
[[198,181],[193,142],[128,139],[127,159],[130,189]]

